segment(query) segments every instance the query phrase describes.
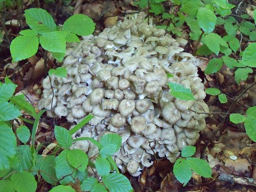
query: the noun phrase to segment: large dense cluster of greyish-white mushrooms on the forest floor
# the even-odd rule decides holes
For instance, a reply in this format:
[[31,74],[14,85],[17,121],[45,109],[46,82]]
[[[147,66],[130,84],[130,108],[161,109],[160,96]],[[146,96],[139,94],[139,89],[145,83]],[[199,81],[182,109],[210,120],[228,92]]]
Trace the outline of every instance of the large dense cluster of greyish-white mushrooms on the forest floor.
[[[153,164],[153,154],[174,162],[180,149],[194,145],[206,115],[192,111],[209,111],[197,61],[180,47],[186,40],[165,32],[148,25],[144,13],[133,15],[98,36],[68,45],[63,62],[67,77],[51,76],[53,102],[50,78],[43,80],[39,108],[76,123],[94,114],[73,138],[119,134],[122,146],[114,159],[121,171],[134,176]],[[168,82],[191,89],[196,101],[173,97]],[[72,147],[83,149],[89,158],[99,152],[88,141]]]

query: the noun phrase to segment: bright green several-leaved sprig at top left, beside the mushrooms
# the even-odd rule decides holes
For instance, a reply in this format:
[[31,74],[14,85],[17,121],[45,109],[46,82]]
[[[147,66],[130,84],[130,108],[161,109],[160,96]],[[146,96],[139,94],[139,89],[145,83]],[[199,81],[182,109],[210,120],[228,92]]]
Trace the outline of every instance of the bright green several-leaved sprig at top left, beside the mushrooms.
[[52,16],[44,9],[26,9],[25,17],[31,29],[20,31],[20,36],[12,40],[12,62],[35,55],[39,43],[61,62],[66,53],[66,42],[79,42],[78,36],[88,36],[95,30],[95,23],[84,14],[74,14],[62,27],[56,26]]

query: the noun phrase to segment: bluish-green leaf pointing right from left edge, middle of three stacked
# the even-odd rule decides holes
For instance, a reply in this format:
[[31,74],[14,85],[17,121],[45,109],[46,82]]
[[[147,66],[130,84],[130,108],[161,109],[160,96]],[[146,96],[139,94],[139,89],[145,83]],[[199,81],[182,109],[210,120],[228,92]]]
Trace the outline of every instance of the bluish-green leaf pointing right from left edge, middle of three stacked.
[[21,115],[21,112],[12,104],[0,101],[0,121],[9,121]]

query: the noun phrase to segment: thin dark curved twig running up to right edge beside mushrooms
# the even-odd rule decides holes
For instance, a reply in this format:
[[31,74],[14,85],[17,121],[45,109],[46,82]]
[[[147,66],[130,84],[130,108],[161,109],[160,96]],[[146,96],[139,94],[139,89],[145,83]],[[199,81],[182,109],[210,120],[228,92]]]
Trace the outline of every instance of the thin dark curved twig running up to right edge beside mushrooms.
[[244,93],[246,93],[250,88],[252,88],[254,85],[256,85],[256,81],[254,81],[254,83],[252,83],[251,85],[249,85],[247,88],[245,88],[234,100],[234,102],[232,102],[232,104],[230,105],[227,113],[225,114],[225,116],[223,117],[222,121],[220,122],[220,126],[218,129],[214,130],[213,133],[210,135],[209,139],[205,142],[202,152],[201,152],[201,159],[205,159],[205,155],[206,155],[206,148],[207,146],[212,142],[212,140],[215,138],[215,135],[220,131],[222,132],[223,130],[223,125],[228,117],[228,114],[230,114],[230,112],[232,111],[233,107],[235,106],[235,104],[238,102],[238,100],[244,95]]

